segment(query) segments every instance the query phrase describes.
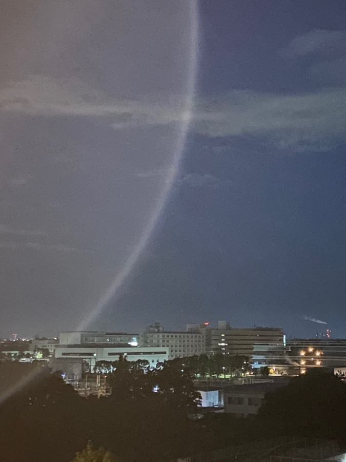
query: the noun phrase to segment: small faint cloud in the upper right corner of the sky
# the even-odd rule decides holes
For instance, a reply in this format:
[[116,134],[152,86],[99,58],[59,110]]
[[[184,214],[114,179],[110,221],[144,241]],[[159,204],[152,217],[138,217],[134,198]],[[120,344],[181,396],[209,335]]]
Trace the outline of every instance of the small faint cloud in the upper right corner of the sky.
[[286,47],[280,50],[280,54],[288,58],[306,56],[308,54],[344,53],[346,46],[346,31],[316,29],[307,34],[298,36]]

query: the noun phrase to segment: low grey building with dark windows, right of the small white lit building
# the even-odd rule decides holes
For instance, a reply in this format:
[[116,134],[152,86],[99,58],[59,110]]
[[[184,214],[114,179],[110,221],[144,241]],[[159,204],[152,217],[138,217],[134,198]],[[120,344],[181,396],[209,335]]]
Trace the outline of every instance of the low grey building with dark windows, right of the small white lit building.
[[237,417],[257,414],[267,393],[288,384],[287,380],[277,378],[271,382],[231,385],[225,388],[225,412]]

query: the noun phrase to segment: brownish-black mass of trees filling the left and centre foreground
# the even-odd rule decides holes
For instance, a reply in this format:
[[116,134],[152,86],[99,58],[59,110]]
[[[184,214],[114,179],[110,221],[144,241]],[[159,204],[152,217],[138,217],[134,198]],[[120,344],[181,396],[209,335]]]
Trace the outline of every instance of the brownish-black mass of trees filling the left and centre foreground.
[[82,398],[47,367],[0,362],[0,460],[68,462],[88,440],[121,462],[203,449],[203,429],[189,418],[200,396],[180,362],[146,371],[120,360],[107,379],[110,396]]

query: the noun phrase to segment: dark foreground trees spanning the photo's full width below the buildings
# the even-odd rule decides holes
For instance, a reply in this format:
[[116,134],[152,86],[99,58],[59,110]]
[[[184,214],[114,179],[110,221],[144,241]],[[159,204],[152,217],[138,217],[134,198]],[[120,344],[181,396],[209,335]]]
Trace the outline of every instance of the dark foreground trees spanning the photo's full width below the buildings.
[[42,363],[0,362],[0,460],[197,461],[283,435],[338,439],[345,447],[346,383],[339,377],[322,370],[295,377],[266,396],[257,416],[193,420],[199,396],[185,360],[149,370],[121,358],[107,374],[112,393],[100,399],[80,397]]

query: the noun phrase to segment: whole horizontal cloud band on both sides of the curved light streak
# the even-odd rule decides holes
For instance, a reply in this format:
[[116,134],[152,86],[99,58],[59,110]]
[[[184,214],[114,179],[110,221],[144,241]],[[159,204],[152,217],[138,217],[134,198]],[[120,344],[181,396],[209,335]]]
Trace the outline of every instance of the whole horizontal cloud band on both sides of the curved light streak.
[[[210,138],[262,137],[281,151],[324,151],[345,139],[346,88],[276,94],[233,90],[197,95],[190,130]],[[153,101],[153,98],[151,99]],[[191,117],[182,95],[120,100],[80,81],[31,76],[0,90],[0,111],[27,115],[91,117],[114,129],[180,124]],[[138,178],[155,173],[138,172]],[[12,179],[25,184],[25,179]]]

